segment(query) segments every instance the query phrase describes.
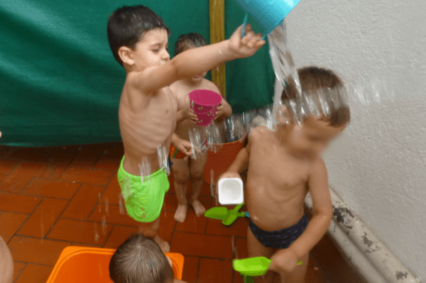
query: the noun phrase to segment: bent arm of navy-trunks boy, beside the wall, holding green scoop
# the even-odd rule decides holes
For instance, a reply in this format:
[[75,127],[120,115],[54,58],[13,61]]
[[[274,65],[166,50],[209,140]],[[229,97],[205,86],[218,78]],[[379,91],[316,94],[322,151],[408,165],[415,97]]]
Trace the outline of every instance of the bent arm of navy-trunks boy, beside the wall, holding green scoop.
[[332,199],[329,192],[327,169],[324,161],[318,159],[308,179],[308,187],[312,196],[312,218],[305,231],[290,247],[275,253],[271,259],[270,269],[276,272],[292,272],[297,261],[314,248],[327,232],[333,217]]

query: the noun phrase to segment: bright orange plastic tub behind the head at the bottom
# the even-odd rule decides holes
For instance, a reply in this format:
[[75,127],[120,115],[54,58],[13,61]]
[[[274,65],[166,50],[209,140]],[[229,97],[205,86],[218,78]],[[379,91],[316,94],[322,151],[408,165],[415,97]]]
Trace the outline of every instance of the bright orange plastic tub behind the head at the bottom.
[[[62,250],[47,283],[111,283],[109,260],[114,249],[70,246]],[[182,279],[183,255],[165,253],[173,262],[175,278]]]

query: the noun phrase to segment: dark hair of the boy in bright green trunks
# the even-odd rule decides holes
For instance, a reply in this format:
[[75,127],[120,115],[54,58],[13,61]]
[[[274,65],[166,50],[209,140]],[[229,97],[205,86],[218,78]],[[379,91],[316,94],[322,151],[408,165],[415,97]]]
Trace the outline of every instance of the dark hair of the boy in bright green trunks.
[[143,34],[154,28],[163,28],[170,36],[170,29],[160,16],[146,6],[123,6],[108,18],[108,41],[114,58],[122,66],[119,48],[135,48]]

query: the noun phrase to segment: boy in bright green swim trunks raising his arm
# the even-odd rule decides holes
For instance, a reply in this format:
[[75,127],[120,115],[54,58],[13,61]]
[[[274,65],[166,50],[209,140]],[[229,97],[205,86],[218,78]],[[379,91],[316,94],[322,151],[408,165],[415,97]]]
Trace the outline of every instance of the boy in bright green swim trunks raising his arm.
[[[166,149],[165,157],[170,143],[190,155],[190,143],[173,135],[178,104],[168,85],[223,62],[253,55],[266,42],[250,27],[246,30],[244,38],[240,27],[229,40],[187,50],[170,60],[170,30],[151,9],[124,6],[109,16],[109,45],[116,61],[126,70],[119,106],[124,145],[118,172],[121,193],[129,216],[140,223],[143,235],[153,238],[164,252],[170,246],[158,237],[158,228],[169,183],[158,147]],[[147,164],[151,170],[146,170]],[[152,174],[141,177],[141,171]]]

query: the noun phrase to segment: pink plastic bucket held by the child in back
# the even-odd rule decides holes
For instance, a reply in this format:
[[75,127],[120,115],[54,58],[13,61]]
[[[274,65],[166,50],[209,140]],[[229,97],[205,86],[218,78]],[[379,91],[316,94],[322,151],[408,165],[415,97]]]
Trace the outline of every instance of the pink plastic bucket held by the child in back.
[[197,125],[212,125],[217,106],[222,102],[222,95],[207,89],[195,89],[188,96],[190,96],[190,108],[198,118]]

